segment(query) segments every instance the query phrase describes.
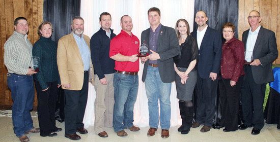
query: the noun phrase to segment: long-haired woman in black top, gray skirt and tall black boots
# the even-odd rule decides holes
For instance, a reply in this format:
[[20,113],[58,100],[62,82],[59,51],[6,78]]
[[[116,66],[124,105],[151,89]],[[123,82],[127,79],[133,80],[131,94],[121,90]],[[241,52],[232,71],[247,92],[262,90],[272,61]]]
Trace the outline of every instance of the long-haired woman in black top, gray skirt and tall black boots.
[[192,93],[197,83],[198,43],[191,37],[189,24],[185,19],[176,23],[176,33],[180,45],[180,54],[174,57],[175,82],[179,100],[182,126],[178,131],[187,134],[192,125],[193,104]]

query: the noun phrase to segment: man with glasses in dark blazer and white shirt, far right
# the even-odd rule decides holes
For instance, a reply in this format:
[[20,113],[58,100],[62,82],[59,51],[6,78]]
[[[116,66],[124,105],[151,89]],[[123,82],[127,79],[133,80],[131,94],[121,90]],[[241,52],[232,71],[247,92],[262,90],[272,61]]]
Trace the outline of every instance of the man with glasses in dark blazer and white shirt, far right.
[[239,129],[254,126],[251,134],[259,134],[264,126],[265,87],[266,83],[274,81],[272,62],[278,56],[275,33],[263,28],[260,25],[261,21],[260,13],[251,11],[248,16],[251,28],[242,34],[246,51],[245,60],[249,63],[244,65],[246,75],[241,90],[244,123]]

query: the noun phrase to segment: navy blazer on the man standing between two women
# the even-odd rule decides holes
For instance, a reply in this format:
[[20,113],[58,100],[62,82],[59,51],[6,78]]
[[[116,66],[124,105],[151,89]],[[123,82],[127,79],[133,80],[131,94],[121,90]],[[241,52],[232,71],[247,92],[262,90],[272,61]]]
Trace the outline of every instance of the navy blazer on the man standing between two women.
[[[197,30],[191,35],[197,39]],[[198,74],[202,79],[208,79],[210,73],[219,73],[222,42],[220,33],[210,28],[206,29],[199,49]]]

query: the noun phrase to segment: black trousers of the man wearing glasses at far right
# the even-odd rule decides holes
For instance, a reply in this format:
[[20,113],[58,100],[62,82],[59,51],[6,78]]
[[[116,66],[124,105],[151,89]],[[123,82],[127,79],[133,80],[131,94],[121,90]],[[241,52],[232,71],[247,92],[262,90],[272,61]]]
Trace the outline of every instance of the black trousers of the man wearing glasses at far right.
[[245,79],[241,90],[241,103],[244,124],[262,129],[264,126],[263,103],[265,96],[264,84],[254,81],[251,66],[244,65]]

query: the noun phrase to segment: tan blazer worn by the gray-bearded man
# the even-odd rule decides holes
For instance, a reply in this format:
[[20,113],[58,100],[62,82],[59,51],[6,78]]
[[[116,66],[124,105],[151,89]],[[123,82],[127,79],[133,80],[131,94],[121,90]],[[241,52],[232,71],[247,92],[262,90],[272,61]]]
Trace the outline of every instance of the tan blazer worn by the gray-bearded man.
[[[90,38],[85,34],[83,34],[83,38],[90,49]],[[62,88],[68,90],[81,90],[84,74],[83,62],[72,32],[59,40],[57,61]],[[91,68],[93,68],[92,61]],[[65,88],[63,87],[64,84],[70,84],[71,87]],[[94,85],[94,79],[92,84]]]

